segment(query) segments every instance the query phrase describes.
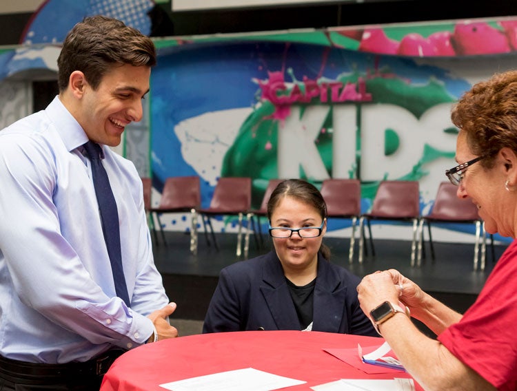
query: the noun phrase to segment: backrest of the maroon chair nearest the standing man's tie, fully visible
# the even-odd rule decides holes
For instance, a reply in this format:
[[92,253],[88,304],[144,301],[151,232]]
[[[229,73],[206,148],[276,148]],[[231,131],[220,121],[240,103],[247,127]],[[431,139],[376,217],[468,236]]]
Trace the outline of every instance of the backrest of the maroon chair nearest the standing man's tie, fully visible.
[[159,209],[192,209],[200,205],[199,176],[172,176],[165,179]]

